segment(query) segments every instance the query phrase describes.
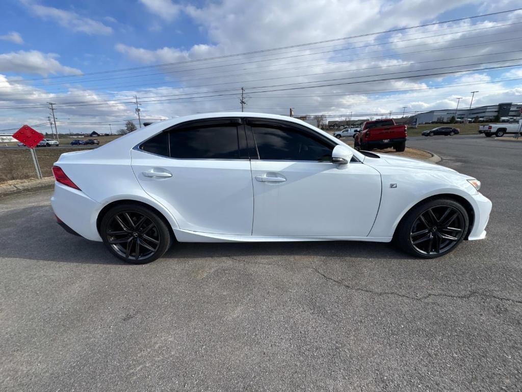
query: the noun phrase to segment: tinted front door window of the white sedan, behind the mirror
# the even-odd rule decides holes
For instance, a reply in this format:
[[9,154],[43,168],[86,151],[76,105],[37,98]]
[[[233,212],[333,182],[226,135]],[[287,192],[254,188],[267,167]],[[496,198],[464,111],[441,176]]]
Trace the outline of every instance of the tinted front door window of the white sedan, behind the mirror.
[[260,159],[331,161],[330,145],[299,129],[252,126],[252,131]]

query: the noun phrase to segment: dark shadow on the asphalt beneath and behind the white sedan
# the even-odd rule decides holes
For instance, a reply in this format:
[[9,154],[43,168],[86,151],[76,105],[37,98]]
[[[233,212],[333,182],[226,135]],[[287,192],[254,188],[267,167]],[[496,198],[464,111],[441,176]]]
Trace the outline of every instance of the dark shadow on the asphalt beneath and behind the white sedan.
[[[48,206],[26,207],[2,215],[0,257],[87,264],[128,265],[101,242],[65,232]],[[349,257],[351,259],[412,259],[389,244],[319,241],[293,243],[174,243],[163,259],[254,257]],[[254,261],[253,261],[254,262]]]

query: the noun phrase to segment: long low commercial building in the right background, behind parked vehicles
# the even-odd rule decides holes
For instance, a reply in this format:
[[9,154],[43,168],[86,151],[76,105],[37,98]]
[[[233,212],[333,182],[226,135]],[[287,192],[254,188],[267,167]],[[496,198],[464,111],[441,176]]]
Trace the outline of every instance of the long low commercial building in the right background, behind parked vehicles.
[[430,122],[448,122],[453,116],[456,119],[474,119],[476,117],[484,119],[484,121],[493,121],[497,116],[502,117],[520,117],[520,103],[502,102],[498,105],[479,106],[475,108],[463,109],[446,109],[446,110],[431,110],[429,112],[418,113],[415,118],[419,124]]

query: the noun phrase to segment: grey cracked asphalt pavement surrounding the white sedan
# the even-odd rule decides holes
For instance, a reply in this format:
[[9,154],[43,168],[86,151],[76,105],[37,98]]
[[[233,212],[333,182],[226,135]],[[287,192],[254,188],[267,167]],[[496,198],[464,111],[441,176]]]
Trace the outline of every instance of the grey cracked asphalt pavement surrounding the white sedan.
[[408,145],[482,181],[487,239],[430,261],[386,244],[178,244],[131,266],[58,227],[51,191],[0,199],[0,389],[520,390],[522,145]]

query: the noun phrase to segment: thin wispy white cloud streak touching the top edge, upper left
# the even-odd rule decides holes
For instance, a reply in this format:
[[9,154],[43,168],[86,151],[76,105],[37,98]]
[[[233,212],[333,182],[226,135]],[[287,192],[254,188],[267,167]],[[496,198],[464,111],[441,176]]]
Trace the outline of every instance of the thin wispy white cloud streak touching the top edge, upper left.
[[112,33],[112,28],[109,26],[105,26],[97,20],[80,16],[74,11],[34,4],[30,0],[21,0],[21,2],[29,8],[32,14],[43,20],[55,21],[58,25],[67,29],[89,35],[98,34],[106,36]]

